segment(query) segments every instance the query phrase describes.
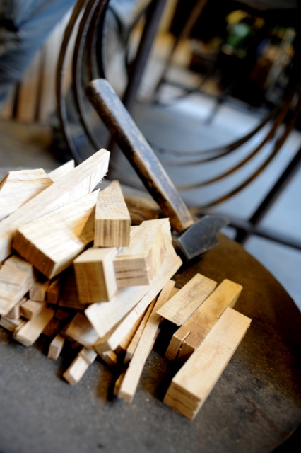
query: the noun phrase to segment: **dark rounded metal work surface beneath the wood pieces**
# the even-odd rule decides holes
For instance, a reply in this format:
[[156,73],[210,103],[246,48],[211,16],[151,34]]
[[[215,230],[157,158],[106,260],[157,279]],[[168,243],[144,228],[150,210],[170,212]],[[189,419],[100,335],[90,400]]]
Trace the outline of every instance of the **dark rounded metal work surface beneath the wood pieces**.
[[52,362],[46,340],[24,348],[1,329],[0,451],[256,453],[288,437],[301,420],[301,314],[240,245],[219,239],[177,284],[196,272],[240,283],[236,309],[252,324],[193,422],[162,403],[173,370],[158,350],[129,405],[108,398],[113,374],[102,362],[72,387],[60,379],[72,360],[68,350]]

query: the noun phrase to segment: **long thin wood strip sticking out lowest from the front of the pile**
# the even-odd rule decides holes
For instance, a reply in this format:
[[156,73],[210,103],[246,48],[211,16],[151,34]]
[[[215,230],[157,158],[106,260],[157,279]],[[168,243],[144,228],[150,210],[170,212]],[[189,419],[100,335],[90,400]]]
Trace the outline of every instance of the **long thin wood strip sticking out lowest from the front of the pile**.
[[126,369],[126,373],[124,374],[124,379],[122,380],[118,397],[128,403],[133,401],[146,359],[153,349],[155,339],[159,333],[160,322],[163,318],[158,315],[158,309],[160,309],[160,307],[163,306],[168,299],[170,299],[170,293],[172,292],[172,288],[174,286],[175,282],[170,280],[163,288],[157,302],[155,303],[151,315],[146,321],[146,326],[143,328],[141,337],[138,340],[134,354],[131,357],[131,362],[129,362],[129,367]]

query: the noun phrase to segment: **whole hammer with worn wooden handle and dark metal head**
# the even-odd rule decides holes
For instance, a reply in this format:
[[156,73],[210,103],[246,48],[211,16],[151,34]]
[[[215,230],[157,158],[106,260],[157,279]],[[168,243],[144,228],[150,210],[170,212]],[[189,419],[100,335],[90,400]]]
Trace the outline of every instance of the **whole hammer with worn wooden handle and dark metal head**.
[[184,262],[194,260],[216,245],[216,232],[228,224],[228,219],[206,215],[194,222],[175,185],[109,82],[93,80],[85,93],[143,185],[165,217],[170,218],[176,231],[173,244]]

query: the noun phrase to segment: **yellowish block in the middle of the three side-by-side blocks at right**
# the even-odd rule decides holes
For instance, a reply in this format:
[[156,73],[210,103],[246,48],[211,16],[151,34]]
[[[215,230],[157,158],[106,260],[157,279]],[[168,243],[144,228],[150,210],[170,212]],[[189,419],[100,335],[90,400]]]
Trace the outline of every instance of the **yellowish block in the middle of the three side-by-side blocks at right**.
[[173,334],[165,357],[168,360],[175,360],[179,356],[186,360],[205,338],[225,308],[227,306],[233,308],[241,291],[241,285],[223,280],[199,309],[194,311],[194,314]]

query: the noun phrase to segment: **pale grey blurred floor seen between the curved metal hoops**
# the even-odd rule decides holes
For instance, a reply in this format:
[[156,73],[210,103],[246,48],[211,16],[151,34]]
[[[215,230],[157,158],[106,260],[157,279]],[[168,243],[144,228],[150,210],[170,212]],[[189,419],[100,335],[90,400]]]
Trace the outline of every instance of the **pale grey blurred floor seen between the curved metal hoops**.
[[[167,93],[166,97],[168,96],[175,96],[175,93]],[[210,115],[213,105],[212,98],[194,95],[182,101],[170,103],[169,106],[153,106],[145,110],[142,109],[143,114],[139,117],[139,125],[150,142],[158,144],[161,148],[183,151],[182,156],[168,156],[166,153],[158,151],[159,158],[163,160],[163,163],[165,162],[165,168],[176,185],[198,182],[204,178],[218,175],[221,171],[229,168],[235,159],[240,161],[242,156],[248,154],[249,150],[260,139],[260,137],[256,137],[252,140],[252,143],[243,147],[239,154],[235,154],[230,159],[219,160],[218,164],[182,166],[182,161],[185,160],[185,151],[208,149],[231,142],[252,130],[252,127],[259,122],[262,115],[262,113],[247,110],[240,103],[225,103],[208,125],[206,118]],[[50,170],[59,165],[59,162],[48,151],[51,141],[48,127],[0,122],[0,134],[1,167],[42,167]],[[264,131],[262,134],[264,134]],[[244,180],[246,176],[252,173],[252,170],[254,171],[261,164],[272,145],[273,142],[268,144],[264,149],[263,156],[254,159],[254,162],[252,161],[247,168],[237,172],[235,177],[226,178],[222,183],[210,185],[208,188],[182,192],[184,200],[191,207],[203,205],[213,200],[214,197],[235,188],[237,183]],[[249,187],[231,200],[218,207],[211,208],[211,212],[247,219],[259,205],[268,189],[271,188],[285,165],[300,148],[300,145],[301,134],[293,131],[275,161],[266,168],[266,171],[259,178],[256,178]],[[170,160],[179,163],[180,166],[168,165],[166,162]],[[114,165],[117,174],[119,172],[119,177],[124,182],[136,183],[134,173],[126,166],[122,157],[117,156]],[[298,172],[278,199],[276,205],[268,212],[262,226],[301,242],[300,194],[301,172]],[[231,236],[233,231],[228,229],[225,233]],[[245,248],[271,271],[301,309],[301,252],[258,236],[252,236],[247,241]]]

